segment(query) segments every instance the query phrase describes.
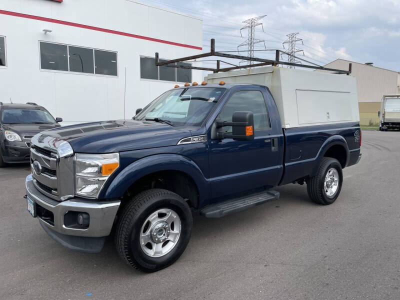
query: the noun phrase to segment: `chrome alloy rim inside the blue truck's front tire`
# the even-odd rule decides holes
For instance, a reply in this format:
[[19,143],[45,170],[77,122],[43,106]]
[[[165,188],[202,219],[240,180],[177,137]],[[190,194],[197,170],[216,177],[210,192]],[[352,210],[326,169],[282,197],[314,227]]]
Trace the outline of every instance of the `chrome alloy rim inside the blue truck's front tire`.
[[178,214],[169,208],[158,209],[141,226],[140,247],[150,257],[163,256],[176,245],[180,231]]

